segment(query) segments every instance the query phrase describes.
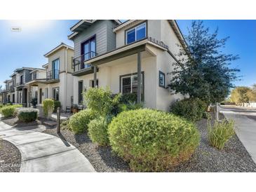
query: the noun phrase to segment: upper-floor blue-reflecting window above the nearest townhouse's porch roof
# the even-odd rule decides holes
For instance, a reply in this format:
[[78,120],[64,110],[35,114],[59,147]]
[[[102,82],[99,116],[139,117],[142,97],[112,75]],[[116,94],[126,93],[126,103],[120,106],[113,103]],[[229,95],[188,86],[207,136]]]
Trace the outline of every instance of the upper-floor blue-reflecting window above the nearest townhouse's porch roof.
[[133,29],[126,31],[126,44],[144,39],[147,35],[146,23],[142,23]]

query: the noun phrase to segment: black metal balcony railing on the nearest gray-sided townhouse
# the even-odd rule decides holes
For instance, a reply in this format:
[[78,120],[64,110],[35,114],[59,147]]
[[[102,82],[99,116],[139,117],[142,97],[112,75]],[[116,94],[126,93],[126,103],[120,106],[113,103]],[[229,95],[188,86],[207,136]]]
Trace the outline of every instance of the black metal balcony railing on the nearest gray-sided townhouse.
[[74,72],[90,67],[90,64],[85,64],[84,62],[96,56],[97,56],[97,53],[95,53],[94,51],[90,51],[86,54],[83,54],[83,55],[80,55],[79,57],[74,58],[73,60]]

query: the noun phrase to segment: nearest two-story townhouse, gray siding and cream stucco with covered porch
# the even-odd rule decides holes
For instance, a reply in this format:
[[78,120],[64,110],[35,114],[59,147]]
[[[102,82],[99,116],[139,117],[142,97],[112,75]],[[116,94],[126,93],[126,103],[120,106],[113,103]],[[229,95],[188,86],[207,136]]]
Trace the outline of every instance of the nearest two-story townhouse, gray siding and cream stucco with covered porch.
[[81,20],[71,31],[74,103],[83,102],[82,92],[96,85],[134,92],[145,107],[165,111],[183,98],[168,88],[177,44],[187,49],[175,20]]

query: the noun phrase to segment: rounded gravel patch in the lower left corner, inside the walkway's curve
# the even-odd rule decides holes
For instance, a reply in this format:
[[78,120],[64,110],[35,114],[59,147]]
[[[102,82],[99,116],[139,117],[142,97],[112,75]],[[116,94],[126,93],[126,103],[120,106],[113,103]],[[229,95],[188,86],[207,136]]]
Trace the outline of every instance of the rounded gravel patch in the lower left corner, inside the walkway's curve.
[[20,172],[20,151],[10,142],[0,140],[0,172]]

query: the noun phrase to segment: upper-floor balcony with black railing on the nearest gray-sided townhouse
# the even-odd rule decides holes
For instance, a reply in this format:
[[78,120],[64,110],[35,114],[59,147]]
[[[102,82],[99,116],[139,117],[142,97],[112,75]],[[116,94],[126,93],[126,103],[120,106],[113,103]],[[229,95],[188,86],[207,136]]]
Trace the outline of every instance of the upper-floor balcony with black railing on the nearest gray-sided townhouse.
[[74,58],[73,60],[73,75],[74,76],[83,76],[86,74],[93,73],[93,68],[90,64],[85,64],[87,60],[92,59],[93,57],[96,57],[97,53],[90,51],[86,54],[80,55],[79,57]]

